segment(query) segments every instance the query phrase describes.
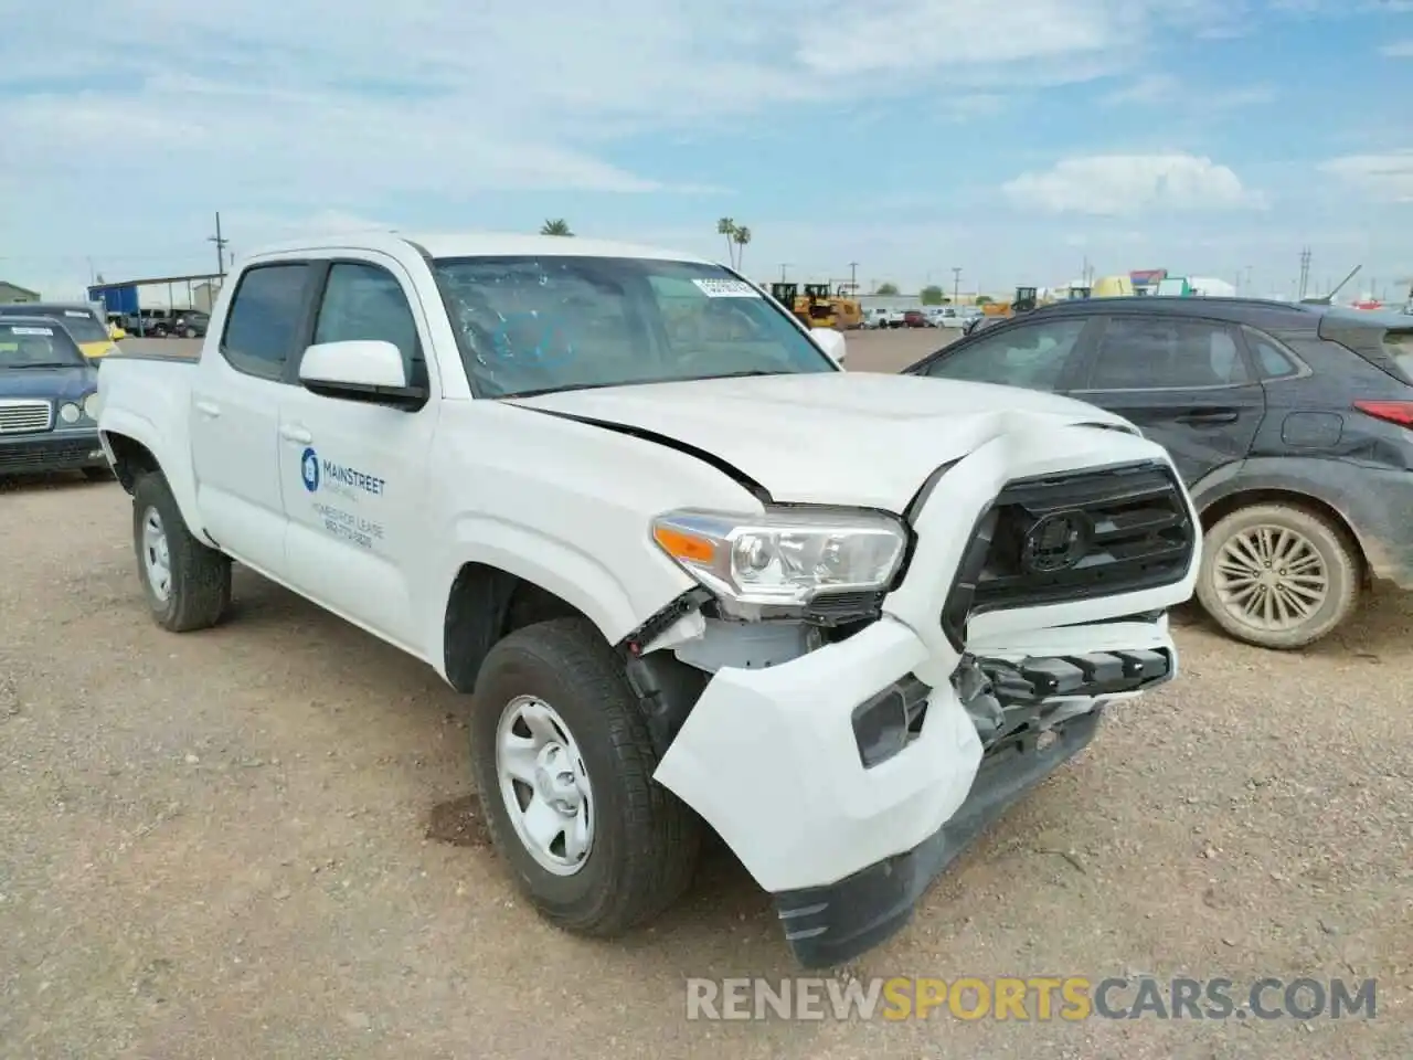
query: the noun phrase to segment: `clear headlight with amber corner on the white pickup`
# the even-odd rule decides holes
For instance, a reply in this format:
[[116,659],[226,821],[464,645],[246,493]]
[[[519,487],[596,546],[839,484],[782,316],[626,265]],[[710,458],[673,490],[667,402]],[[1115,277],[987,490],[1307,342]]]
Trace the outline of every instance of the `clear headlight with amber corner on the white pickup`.
[[653,540],[725,601],[801,606],[822,594],[885,588],[907,530],[893,516],[859,509],[682,510],[654,519]]

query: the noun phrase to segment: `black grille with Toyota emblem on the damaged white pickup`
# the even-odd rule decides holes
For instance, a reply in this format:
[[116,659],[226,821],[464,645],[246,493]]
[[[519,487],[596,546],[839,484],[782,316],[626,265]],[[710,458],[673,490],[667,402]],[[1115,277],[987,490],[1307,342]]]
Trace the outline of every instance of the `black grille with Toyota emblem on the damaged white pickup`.
[[[1067,555],[1037,550],[1030,538],[1048,516],[1067,517],[1075,529]],[[1195,541],[1181,488],[1164,464],[1010,482],[976,523],[942,628],[959,649],[969,615],[1170,585],[1187,572]]]

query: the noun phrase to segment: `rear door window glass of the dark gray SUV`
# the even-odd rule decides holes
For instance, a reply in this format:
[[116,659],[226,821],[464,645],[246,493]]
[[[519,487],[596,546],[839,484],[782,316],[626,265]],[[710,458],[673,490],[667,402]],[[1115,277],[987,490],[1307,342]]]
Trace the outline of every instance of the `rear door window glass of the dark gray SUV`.
[[1251,382],[1224,324],[1111,317],[1099,339],[1089,390],[1190,390]]

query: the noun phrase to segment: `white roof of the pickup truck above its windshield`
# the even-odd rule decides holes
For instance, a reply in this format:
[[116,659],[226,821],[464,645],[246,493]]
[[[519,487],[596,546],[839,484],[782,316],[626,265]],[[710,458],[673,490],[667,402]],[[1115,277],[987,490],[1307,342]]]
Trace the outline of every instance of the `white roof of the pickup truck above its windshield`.
[[430,257],[646,257],[661,261],[695,261],[708,259],[680,250],[615,243],[578,236],[530,236],[516,232],[397,232],[373,229],[338,232],[302,239],[285,239],[250,252],[250,257],[287,254],[300,250],[329,250],[363,247],[367,250],[397,250],[407,245]]

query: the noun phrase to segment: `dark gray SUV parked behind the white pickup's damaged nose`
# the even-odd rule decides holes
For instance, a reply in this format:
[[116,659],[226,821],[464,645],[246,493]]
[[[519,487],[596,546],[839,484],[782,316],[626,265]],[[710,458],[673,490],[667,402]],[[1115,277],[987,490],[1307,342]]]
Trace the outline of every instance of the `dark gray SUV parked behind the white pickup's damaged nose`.
[[[1167,448],[1202,513],[1197,598],[1234,637],[1301,647],[1368,584],[1413,589],[1407,315],[1096,298],[975,331],[904,372],[1075,397]],[[1130,517],[1143,513],[1135,497]]]

